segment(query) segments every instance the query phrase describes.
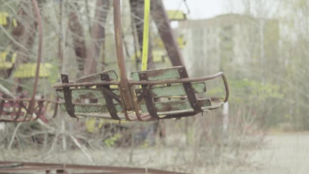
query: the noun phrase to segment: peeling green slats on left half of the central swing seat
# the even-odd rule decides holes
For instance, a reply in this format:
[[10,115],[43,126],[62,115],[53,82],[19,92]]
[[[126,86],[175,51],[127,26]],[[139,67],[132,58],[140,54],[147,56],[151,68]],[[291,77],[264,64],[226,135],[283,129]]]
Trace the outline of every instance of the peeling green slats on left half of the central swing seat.
[[[114,81],[117,79],[118,77],[115,71],[108,70],[81,77],[77,79],[76,82]],[[85,115],[87,113],[109,113],[112,119],[120,120],[122,118],[118,117],[117,112],[122,112],[122,107],[120,102],[115,100],[116,98],[119,98],[119,90],[118,88],[110,88],[110,86],[111,85],[95,86],[95,88],[87,88],[85,86],[82,86],[81,88],[70,88],[70,96],[67,96],[67,99],[65,90],[57,89],[57,96],[60,99],[66,100],[65,103],[59,104],[60,109],[68,111],[71,117],[76,117],[76,115]],[[112,98],[109,94],[112,94],[114,98]]]

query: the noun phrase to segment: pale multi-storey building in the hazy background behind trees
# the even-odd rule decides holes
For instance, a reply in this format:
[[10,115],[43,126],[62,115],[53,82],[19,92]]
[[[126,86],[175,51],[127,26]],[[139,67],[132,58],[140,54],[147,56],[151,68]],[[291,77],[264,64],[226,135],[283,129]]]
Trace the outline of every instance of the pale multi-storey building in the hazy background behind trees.
[[240,67],[266,66],[279,49],[279,24],[274,19],[225,14],[180,21],[177,33],[186,36],[182,53],[192,76],[246,73],[250,70]]

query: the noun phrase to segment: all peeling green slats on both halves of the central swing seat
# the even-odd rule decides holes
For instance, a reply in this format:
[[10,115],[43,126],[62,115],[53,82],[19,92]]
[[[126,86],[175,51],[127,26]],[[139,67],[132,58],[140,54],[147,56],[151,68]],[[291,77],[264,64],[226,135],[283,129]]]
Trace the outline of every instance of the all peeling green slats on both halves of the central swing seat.
[[[63,80],[64,77],[62,77]],[[182,66],[132,73],[133,81],[181,78],[188,78],[187,71]],[[79,78],[76,83],[115,80],[117,80],[115,71],[109,70]],[[123,112],[118,86],[115,85],[116,88],[111,88],[111,86],[113,85],[92,85],[90,88],[85,85],[78,88],[56,89],[58,97],[66,101],[60,103],[60,109],[67,110],[71,117],[76,117],[76,115],[85,117],[85,115],[109,114],[111,119],[123,120],[125,118],[120,117],[120,114],[118,114]],[[66,92],[66,90],[69,91]],[[137,98],[135,102],[139,112],[149,113],[151,117],[161,119],[166,115],[202,112],[204,107],[211,105],[211,100],[209,98],[197,99],[195,94],[205,92],[205,82],[186,82],[142,85],[142,88],[136,85],[135,94],[133,95]]]

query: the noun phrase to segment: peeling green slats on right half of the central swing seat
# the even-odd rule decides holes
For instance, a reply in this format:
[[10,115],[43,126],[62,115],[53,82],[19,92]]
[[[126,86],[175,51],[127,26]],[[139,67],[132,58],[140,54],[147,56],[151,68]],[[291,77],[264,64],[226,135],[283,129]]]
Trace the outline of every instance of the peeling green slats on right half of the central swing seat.
[[[188,78],[188,74],[183,66],[177,66],[166,69],[133,72],[132,78],[134,81],[155,81]],[[147,92],[143,93],[145,90]],[[159,115],[196,114],[204,111],[204,107],[211,105],[210,98],[197,99],[195,94],[205,92],[205,82],[186,82],[153,86],[142,85],[142,89],[136,90],[136,94],[140,94],[137,97],[143,98],[143,102],[139,105],[140,109],[142,112],[149,112],[151,117],[154,118],[161,118]]]

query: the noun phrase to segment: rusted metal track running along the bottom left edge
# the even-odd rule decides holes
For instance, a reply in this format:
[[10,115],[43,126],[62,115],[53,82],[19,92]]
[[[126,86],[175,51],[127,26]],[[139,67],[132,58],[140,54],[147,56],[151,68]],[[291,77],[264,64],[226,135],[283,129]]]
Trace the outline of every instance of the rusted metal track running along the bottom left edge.
[[152,168],[93,166],[78,164],[30,163],[16,161],[0,161],[0,173],[16,172],[46,172],[46,173],[179,173]]

